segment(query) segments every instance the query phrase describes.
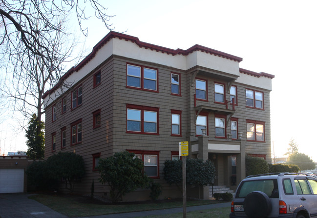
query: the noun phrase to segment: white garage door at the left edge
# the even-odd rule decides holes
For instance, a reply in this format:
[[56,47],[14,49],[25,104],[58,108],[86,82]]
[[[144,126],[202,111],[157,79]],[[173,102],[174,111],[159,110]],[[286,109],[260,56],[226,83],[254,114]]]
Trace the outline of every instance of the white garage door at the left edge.
[[23,192],[24,169],[0,168],[0,193]]

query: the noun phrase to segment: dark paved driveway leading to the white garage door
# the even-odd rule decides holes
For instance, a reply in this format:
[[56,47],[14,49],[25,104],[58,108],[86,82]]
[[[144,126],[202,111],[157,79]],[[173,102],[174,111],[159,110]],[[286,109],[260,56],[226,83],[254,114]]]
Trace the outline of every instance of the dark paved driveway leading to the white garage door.
[[1,218],[67,218],[65,215],[44,206],[29,195],[0,194]]

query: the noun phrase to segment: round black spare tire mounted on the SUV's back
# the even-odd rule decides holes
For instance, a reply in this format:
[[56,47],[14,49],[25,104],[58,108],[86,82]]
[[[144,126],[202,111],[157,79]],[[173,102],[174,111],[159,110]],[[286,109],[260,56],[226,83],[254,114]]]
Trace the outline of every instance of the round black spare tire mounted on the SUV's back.
[[264,192],[254,191],[244,199],[244,211],[250,218],[265,218],[271,210],[271,200]]

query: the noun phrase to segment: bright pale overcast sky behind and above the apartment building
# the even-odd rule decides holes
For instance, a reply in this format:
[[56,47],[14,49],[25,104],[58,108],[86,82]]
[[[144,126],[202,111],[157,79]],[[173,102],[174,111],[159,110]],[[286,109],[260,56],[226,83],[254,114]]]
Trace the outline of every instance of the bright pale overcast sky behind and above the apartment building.
[[[200,44],[243,58],[241,68],[275,75],[271,92],[275,156],[283,156],[294,138],[299,152],[317,161],[312,138],[317,121],[316,0],[115,0],[105,6],[109,15],[115,15],[109,21],[114,31],[172,49]],[[91,19],[88,25],[85,48],[91,51],[109,31],[98,20]],[[1,116],[6,117],[3,111]],[[15,126],[12,119],[0,124],[1,154],[27,150],[24,133],[11,133]]]

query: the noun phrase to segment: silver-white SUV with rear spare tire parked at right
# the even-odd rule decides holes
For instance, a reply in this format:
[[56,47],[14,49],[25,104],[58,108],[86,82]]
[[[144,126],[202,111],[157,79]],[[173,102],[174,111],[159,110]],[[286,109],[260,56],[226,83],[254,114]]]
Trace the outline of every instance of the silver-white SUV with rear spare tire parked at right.
[[243,179],[230,218],[317,218],[317,178],[275,173]]

